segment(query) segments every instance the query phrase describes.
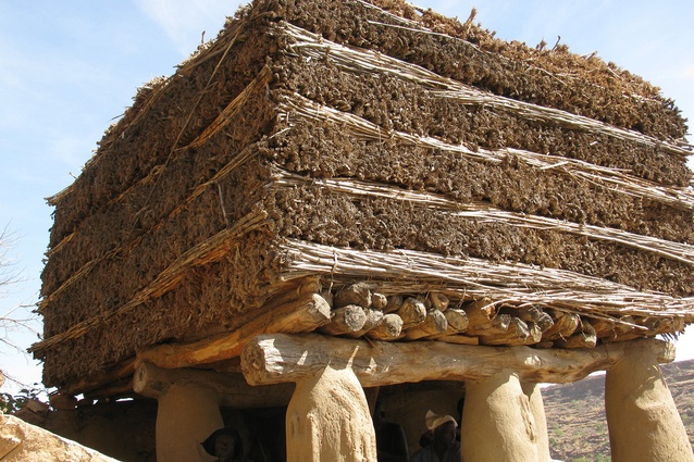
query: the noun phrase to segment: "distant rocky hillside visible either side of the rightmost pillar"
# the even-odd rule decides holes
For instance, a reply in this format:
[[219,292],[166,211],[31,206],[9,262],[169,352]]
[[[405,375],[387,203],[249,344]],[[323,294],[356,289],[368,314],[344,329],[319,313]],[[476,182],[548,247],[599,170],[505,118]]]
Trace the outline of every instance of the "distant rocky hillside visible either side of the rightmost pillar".
[[[668,387],[694,444],[694,360],[662,365]],[[543,389],[549,446],[566,462],[609,461],[605,375]]]

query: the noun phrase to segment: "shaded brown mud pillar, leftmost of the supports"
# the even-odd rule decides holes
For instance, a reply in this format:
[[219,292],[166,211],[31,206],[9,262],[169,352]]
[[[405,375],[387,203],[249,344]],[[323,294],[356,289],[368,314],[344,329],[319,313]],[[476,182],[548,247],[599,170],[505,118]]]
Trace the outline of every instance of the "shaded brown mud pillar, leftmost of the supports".
[[205,387],[173,384],[158,397],[157,460],[208,462],[214,460],[200,445],[224,426],[218,395]]

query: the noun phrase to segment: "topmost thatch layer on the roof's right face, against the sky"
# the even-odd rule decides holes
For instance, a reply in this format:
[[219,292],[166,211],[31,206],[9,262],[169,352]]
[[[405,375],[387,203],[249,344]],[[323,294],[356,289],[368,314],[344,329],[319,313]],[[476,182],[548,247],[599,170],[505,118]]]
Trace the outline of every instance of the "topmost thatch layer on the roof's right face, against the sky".
[[399,1],[374,3],[277,0],[264,8],[327,40],[376,50],[492,93],[583,114],[660,139],[679,139],[686,133],[671,100],[599,59],[578,57],[567,48],[538,51],[496,40],[473,24],[422,14]]

